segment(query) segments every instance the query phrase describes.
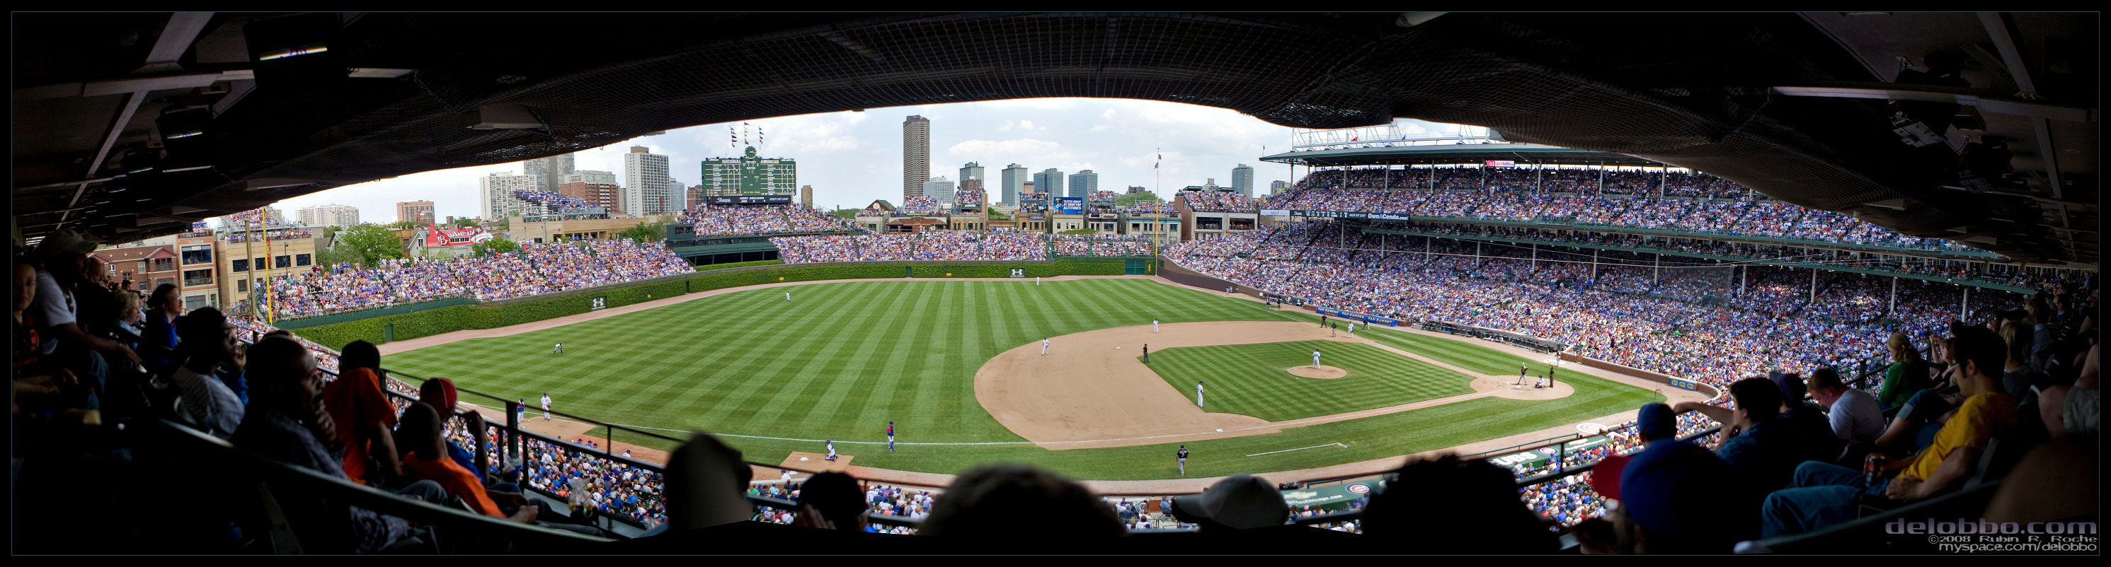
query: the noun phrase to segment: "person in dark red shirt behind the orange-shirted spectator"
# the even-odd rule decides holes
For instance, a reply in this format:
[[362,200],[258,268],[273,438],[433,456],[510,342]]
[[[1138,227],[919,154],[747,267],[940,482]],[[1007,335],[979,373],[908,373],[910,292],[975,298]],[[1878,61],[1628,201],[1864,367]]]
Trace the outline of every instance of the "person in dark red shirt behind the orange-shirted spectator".
[[397,460],[395,405],[382,392],[382,354],[369,341],[350,341],[338,358],[340,373],[323,386],[323,407],[336,422],[334,432],[344,445],[346,476],[361,485],[384,487],[403,478],[403,464]]

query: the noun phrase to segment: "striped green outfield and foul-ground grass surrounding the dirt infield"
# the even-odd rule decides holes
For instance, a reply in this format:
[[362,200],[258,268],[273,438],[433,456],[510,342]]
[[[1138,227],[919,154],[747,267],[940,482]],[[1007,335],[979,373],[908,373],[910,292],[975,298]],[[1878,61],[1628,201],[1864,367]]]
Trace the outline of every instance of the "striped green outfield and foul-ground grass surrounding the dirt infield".
[[[783,301],[785,291],[794,301]],[[821,451],[817,441],[834,438],[838,451],[857,457],[855,464],[878,468],[961,472],[986,462],[1026,462],[1077,478],[1172,478],[1176,445],[1049,451],[1005,430],[973,394],[975,369],[1003,350],[1053,335],[1148,325],[1153,318],[1315,320],[1150,280],[1047,280],[1039,287],[1032,280],[830,282],[739,291],[557,329],[420,348],[386,356],[384,367],[445,375],[469,390],[530,403],[549,392],[553,409],[623,426],[718,432],[747,460],[766,464],[781,462],[790,451]],[[1448,341],[1404,333],[1387,341],[1419,354],[1423,350],[1397,344],[1400,337],[1423,348]],[[551,344],[559,341],[566,354],[551,354]],[[1488,358],[1482,365],[1511,360],[1509,371],[1520,360],[1486,348],[1480,352],[1486,354],[1457,350],[1431,358],[1476,371],[1480,367],[1469,360],[1476,356]],[[1300,356],[1309,363],[1309,354],[1302,350]],[[1157,356],[1153,352],[1153,365],[1159,365]],[[1321,363],[1347,365],[1343,358]],[[1604,379],[1564,379],[1577,394],[1560,400],[1476,398],[1281,434],[1186,443],[1195,451],[1188,474],[1294,470],[1402,455],[1661,400],[1649,390]],[[885,449],[889,419],[901,432],[897,453]],[[1269,453],[1313,445],[1324,447]]]

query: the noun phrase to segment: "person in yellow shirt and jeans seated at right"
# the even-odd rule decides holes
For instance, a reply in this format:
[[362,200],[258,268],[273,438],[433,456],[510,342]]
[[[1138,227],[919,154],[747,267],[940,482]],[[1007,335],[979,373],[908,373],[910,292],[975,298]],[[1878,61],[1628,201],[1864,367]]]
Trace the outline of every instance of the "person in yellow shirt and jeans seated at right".
[[1963,487],[1986,441],[2016,424],[2016,398],[2001,392],[2001,365],[2008,358],[2001,335],[1970,325],[1951,325],[1951,333],[1963,365],[1959,386],[1965,400],[1936,432],[1936,441],[1921,453],[1885,466],[1883,472],[1896,476],[1875,483],[1862,470],[1828,462],[1796,466],[1794,481],[1767,495],[1761,537],[1853,521],[1862,497],[1917,502]]

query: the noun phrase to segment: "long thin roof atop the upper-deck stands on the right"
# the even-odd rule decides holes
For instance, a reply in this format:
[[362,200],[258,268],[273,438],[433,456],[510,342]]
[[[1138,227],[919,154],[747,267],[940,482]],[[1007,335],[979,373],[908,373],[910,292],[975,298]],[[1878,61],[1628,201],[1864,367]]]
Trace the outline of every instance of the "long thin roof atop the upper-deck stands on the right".
[[1302,167],[1374,167],[1374,164],[1480,164],[1511,160],[1518,164],[1604,164],[1659,167],[1661,162],[1628,154],[1556,148],[1543,143],[1442,143],[1442,145],[1372,145],[1283,152],[1262,162]]

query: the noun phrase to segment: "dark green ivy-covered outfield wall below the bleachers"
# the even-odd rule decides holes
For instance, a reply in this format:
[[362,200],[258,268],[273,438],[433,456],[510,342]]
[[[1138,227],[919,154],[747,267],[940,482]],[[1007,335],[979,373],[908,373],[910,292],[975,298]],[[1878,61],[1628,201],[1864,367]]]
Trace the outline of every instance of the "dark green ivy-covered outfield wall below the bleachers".
[[[766,266],[758,266],[766,263]],[[1018,274],[1013,274],[1018,270]],[[621,308],[652,299],[667,299],[684,293],[728,289],[766,282],[811,282],[811,280],[863,280],[863,278],[1049,278],[1049,276],[1121,276],[1123,259],[1058,259],[1058,261],[844,261],[844,263],[800,263],[743,261],[726,263],[692,276],[667,276],[635,285],[578,289],[536,297],[488,301],[475,306],[445,306],[407,314],[378,314],[372,318],[315,325],[291,329],[296,335],[327,348],[344,348],[350,341],[382,344],[391,339],[416,339],[469,329],[498,329],[507,325],[536,322],[547,318],[591,312],[595,299],[602,308]],[[298,327],[298,325],[289,325]]]

